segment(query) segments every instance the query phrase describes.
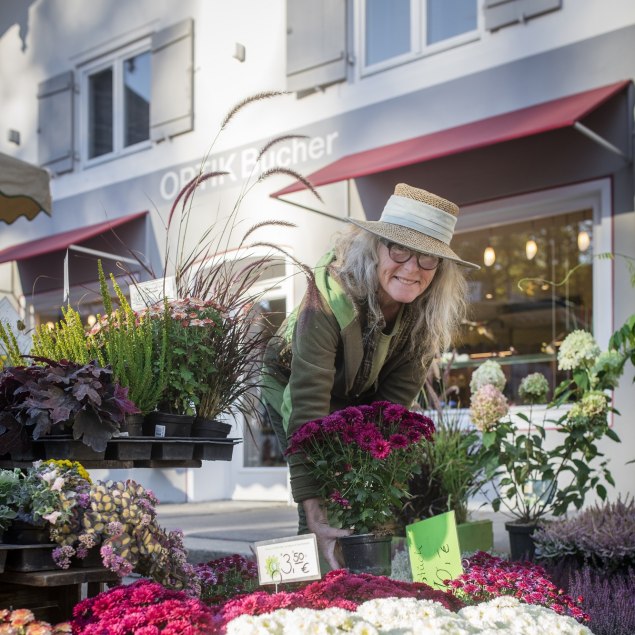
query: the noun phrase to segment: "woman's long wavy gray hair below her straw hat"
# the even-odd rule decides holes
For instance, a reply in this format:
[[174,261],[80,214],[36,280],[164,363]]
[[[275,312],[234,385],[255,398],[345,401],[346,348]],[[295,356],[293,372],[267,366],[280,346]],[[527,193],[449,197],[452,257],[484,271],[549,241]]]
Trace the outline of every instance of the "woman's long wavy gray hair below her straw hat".
[[[372,321],[382,319],[379,306],[380,238],[360,227],[350,226],[336,237],[333,267],[341,284],[357,303],[368,307]],[[412,306],[416,321],[409,352],[427,366],[446,351],[467,311],[467,283],[461,267],[441,259],[430,286]]]

